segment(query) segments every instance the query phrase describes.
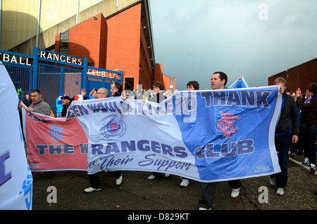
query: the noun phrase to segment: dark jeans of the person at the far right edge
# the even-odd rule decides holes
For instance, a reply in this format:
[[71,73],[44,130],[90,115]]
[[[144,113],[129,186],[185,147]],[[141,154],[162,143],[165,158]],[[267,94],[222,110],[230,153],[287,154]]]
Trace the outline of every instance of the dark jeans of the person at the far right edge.
[[316,136],[317,126],[303,127],[304,156],[309,158],[309,162],[316,165]]

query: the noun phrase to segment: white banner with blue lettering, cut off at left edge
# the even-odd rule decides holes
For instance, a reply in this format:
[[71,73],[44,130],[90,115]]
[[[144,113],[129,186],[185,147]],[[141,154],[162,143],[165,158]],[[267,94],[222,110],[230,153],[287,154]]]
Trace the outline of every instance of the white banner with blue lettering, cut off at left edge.
[[0,209],[32,209],[32,173],[27,166],[18,95],[0,62]]

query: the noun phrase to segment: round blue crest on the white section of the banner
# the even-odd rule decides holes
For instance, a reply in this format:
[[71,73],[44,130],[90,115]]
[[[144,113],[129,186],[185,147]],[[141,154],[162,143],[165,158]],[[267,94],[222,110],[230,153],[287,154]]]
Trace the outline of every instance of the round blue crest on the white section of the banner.
[[127,126],[123,120],[120,120],[119,117],[115,115],[108,116],[101,125],[101,134],[111,140],[123,137],[126,130]]

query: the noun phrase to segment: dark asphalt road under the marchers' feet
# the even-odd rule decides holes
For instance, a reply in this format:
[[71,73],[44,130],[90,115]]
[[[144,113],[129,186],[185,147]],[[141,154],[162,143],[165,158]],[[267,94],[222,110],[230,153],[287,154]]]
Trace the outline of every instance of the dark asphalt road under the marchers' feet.
[[[302,166],[303,160],[303,155],[289,160],[288,183],[282,196],[275,194],[275,187],[269,184],[268,176],[243,179],[240,195],[235,199],[230,197],[228,182],[218,182],[212,210],[317,210],[317,196],[314,194],[317,190],[317,172],[312,174]],[[99,173],[101,191],[85,193],[84,189],[89,187],[87,172],[56,171],[45,177],[35,172],[32,210],[128,211],[129,214],[132,211],[198,211],[201,197],[199,182],[191,180],[188,187],[182,188],[178,176],[147,180],[149,175],[149,172],[123,171],[123,182],[116,185],[114,177],[102,172]]]

